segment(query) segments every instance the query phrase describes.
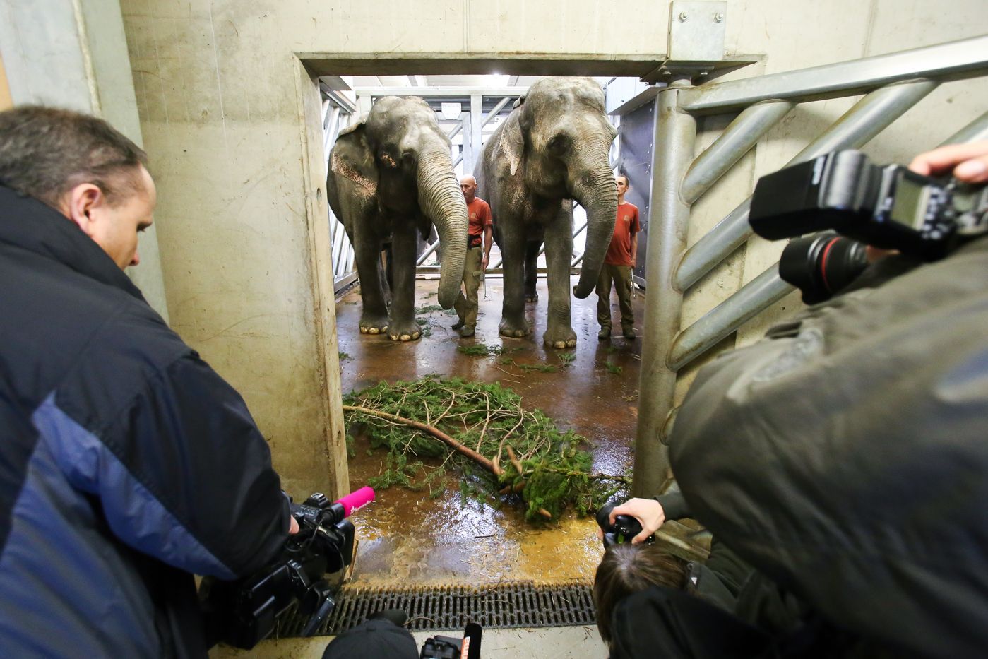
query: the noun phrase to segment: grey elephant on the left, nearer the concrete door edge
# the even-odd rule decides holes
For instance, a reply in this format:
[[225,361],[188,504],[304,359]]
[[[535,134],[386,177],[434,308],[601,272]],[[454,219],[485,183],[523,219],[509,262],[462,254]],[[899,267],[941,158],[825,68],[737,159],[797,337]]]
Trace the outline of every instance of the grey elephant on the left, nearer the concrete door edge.
[[[456,300],[466,256],[466,203],[450,138],[417,97],[378,99],[365,119],[340,131],[330,151],[326,193],[354,246],[361,282],[360,328],[392,341],[422,335],[415,319],[418,235],[436,226],[443,259],[440,305]],[[390,315],[380,252],[390,241]]]

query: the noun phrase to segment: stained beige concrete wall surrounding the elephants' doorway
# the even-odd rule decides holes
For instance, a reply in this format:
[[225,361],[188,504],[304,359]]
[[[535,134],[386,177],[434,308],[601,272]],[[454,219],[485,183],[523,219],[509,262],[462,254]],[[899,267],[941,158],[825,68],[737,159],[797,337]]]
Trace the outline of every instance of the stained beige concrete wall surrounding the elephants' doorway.
[[[327,466],[323,458],[327,451],[338,455],[342,442],[332,377],[339,365],[326,293],[331,288],[325,288],[325,257],[312,255],[324,239],[324,161],[313,137],[314,86],[295,53],[366,60],[418,56],[418,70],[378,71],[383,74],[432,72],[421,62],[437,56],[464,67],[470,58],[498,53],[640,61],[664,51],[668,18],[668,3],[654,0],[121,5],[141,127],[159,183],[173,325],[244,393],[294,494],[331,489],[328,472],[339,486],[341,465]],[[773,72],[983,31],[982,0],[928,5],[729,0],[727,49],[764,54],[758,71]],[[498,66],[500,73],[537,72],[514,68]],[[973,117],[979,95],[983,102],[984,87],[973,83],[945,86],[927,101],[942,110],[905,118],[876,155],[903,159],[935,144],[953,124]],[[743,199],[758,172],[781,164],[848,105],[814,104],[777,127],[757,154],[698,205],[698,228]],[[718,121],[704,121],[701,128],[722,127]],[[701,140],[709,139],[712,133],[701,132]],[[771,251],[753,246],[735,257],[694,296],[688,315],[754,276],[754,266],[771,261]]]

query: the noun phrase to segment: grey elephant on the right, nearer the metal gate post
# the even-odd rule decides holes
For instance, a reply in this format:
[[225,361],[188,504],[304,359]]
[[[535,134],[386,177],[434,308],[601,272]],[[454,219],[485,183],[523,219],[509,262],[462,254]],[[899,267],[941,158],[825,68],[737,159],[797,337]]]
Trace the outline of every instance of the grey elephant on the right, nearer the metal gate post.
[[[617,217],[611,142],[617,131],[604,109],[604,91],[591,78],[544,78],[529,88],[484,144],[478,195],[491,206],[494,239],[504,262],[500,331],[525,336],[527,244],[545,240],[548,269],[546,346],[572,348],[569,271],[573,201],[587,210],[587,246],[573,292],[594,290]],[[535,250],[537,252],[537,249]]]

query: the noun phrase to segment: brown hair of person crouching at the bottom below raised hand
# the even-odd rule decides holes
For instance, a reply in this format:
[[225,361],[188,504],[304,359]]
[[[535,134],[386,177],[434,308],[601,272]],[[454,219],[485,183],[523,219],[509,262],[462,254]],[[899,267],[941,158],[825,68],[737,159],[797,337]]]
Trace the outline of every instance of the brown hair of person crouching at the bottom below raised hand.
[[594,606],[601,638],[611,644],[611,615],[619,601],[650,586],[682,589],[686,579],[686,561],[657,544],[608,547],[594,576]]

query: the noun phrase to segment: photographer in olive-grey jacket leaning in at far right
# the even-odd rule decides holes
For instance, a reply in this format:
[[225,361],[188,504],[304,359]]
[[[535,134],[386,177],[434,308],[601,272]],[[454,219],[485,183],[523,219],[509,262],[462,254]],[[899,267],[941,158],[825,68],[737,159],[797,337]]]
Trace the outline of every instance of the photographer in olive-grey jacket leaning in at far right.
[[[911,167],[981,183],[988,142]],[[830,656],[979,656],[988,237],[933,263],[883,262],[904,274],[809,307],[700,370],[670,458],[715,537],[857,639]],[[651,504],[615,512],[649,532],[664,519]]]

